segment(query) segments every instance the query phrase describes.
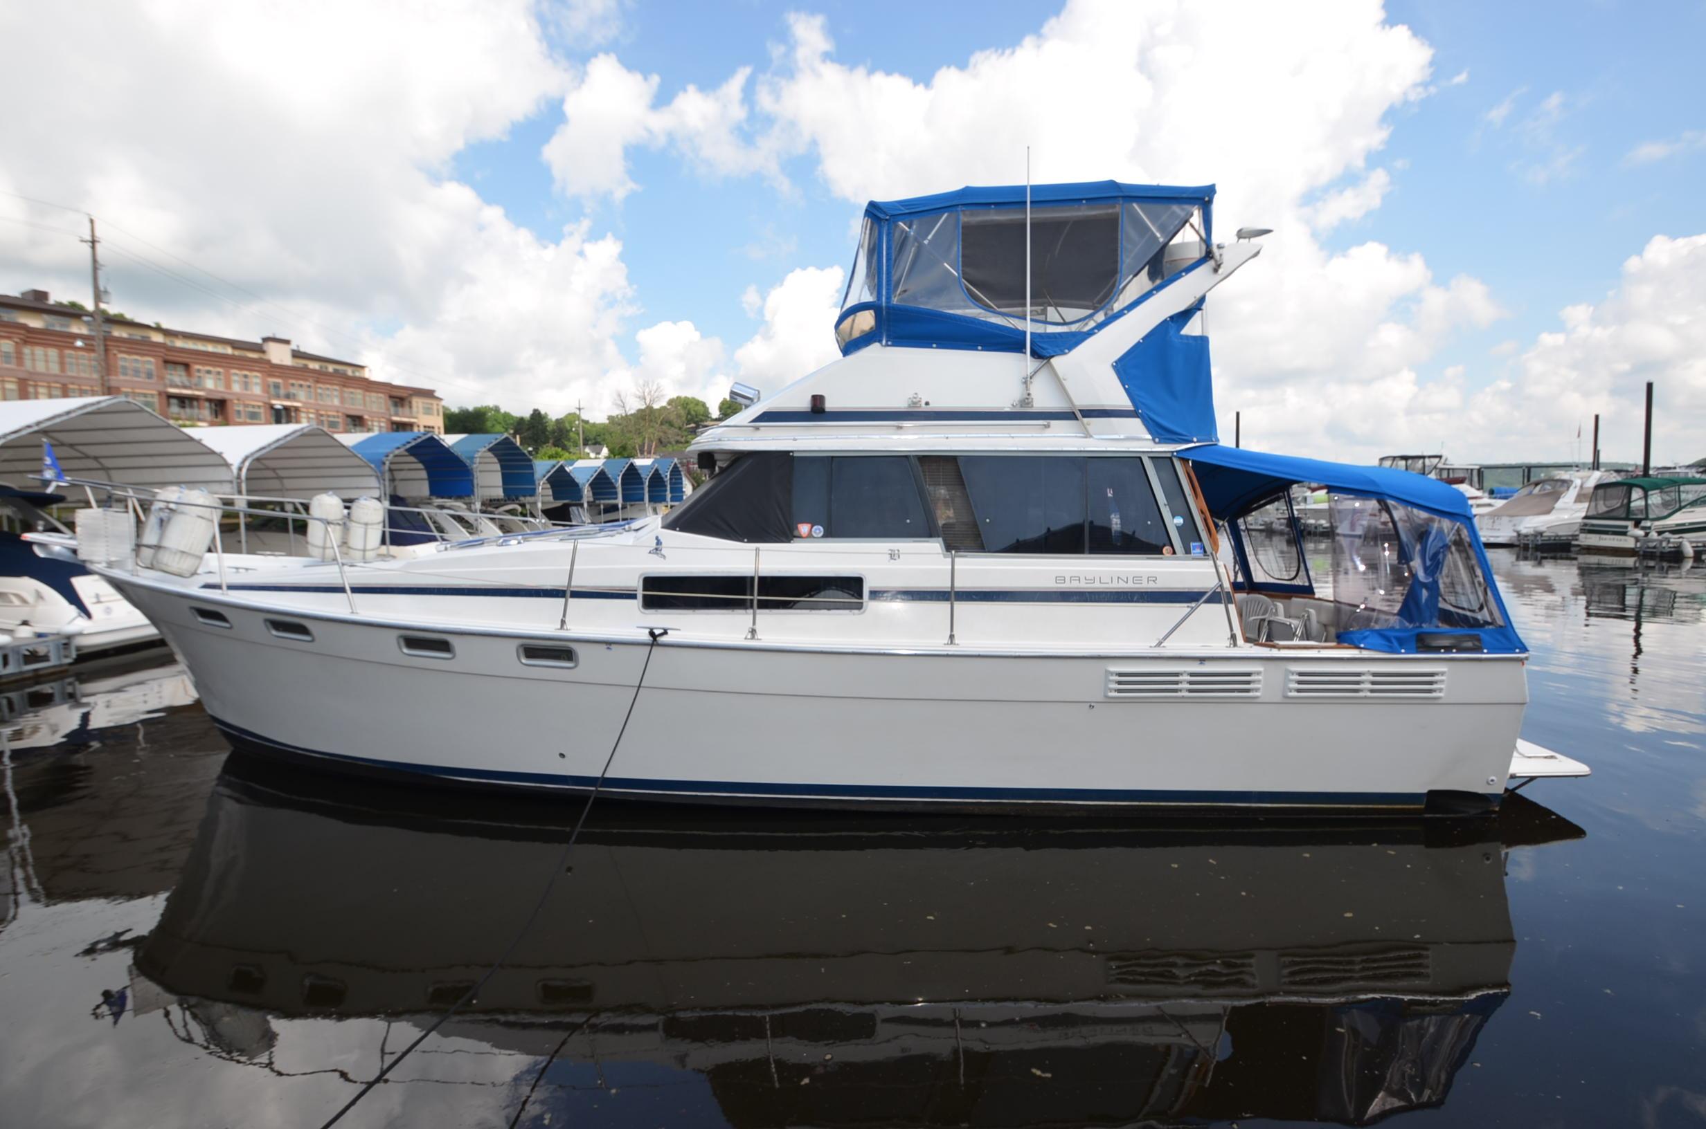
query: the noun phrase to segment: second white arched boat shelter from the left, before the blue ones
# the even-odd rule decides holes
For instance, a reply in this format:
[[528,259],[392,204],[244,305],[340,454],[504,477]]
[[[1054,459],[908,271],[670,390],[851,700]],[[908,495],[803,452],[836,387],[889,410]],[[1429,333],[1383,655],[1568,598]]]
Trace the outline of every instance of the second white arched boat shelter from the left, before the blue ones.
[[329,491],[345,501],[380,496],[372,464],[312,423],[201,428],[196,438],[225,457],[239,495],[312,498]]

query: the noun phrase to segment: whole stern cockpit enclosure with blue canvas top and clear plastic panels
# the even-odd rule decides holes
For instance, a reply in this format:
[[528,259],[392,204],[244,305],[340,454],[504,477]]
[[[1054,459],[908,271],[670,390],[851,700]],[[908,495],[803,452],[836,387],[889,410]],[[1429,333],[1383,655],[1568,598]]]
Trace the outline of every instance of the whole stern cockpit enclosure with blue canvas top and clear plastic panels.
[[[1235,588],[1290,600],[1262,609],[1286,624],[1271,641],[1394,653],[1527,650],[1493,585],[1469,503],[1452,486],[1392,467],[1218,445],[1181,454],[1230,534]],[[1303,539],[1291,508],[1300,483],[1327,489],[1326,544]]]

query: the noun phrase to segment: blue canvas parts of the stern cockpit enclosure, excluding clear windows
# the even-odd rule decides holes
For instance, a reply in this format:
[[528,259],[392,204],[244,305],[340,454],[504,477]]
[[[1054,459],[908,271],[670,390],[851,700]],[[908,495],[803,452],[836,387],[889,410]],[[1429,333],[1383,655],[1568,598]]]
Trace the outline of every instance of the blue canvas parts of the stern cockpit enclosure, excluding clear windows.
[[[1469,500],[1454,486],[1392,467],[1349,466],[1237,447],[1191,447],[1179,454],[1191,462],[1210,513],[1215,520],[1227,522],[1235,539],[1237,518],[1300,483],[1397,507],[1394,518],[1409,587],[1392,616],[1396,626],[1339,631],[1341,643],[1407,655],[1418,653],[1421,634],[1465,633],[1476,634],[1489,653],[1520,655],[1529,650],[1512,626],[1510,611],[1493,582],[1493,566],[1476,534]],[[1416,512],[1416,517],[1406,515],[1404,508]],[[1338,537],[1338,530],[1334,536]],[[1467,544],[1472,551],[1488,597],[1498,609],[1498,626],[1465,626],[1450,609],[1442,607],[1442,576],[1454,544]]]

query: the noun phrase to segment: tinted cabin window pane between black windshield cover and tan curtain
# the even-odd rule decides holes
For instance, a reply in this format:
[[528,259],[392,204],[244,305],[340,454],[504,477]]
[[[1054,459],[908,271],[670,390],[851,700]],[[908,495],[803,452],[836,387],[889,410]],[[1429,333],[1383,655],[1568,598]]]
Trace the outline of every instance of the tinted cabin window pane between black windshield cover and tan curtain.
[[930,537],[913,460],[906,455],[795,457],[793,536]]

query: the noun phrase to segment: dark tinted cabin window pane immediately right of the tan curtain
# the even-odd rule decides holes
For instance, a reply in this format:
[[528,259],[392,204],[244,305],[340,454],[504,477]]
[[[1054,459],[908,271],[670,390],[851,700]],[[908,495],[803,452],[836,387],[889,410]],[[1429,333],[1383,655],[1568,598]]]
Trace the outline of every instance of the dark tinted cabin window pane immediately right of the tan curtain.
[[962,455],[988,553],[1083,553],[1083,459]]

